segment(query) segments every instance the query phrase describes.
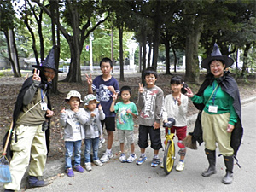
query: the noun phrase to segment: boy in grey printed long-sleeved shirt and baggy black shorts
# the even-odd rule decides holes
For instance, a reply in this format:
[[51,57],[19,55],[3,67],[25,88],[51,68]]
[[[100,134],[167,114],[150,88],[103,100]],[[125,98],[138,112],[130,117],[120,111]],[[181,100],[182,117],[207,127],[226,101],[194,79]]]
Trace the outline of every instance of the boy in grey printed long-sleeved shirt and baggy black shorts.
[[164,93],[160,87],[155,85],[157,73],[154,67],[148,67],[144,73],[146,86],[139,84],[139,94],[137,107],[141,108],[139,113],[139,140],[138,145],[141,148],[141,156],[137,160],[137,165],[143,164],[147,160],[145,150],[148,147],[148,134],[150,136],[151,148],[154,149],[154,157],[151,166],[160,164],[158,156],[159,149],[162,148],[160,138],[160,119],[162,106],[164,102]]

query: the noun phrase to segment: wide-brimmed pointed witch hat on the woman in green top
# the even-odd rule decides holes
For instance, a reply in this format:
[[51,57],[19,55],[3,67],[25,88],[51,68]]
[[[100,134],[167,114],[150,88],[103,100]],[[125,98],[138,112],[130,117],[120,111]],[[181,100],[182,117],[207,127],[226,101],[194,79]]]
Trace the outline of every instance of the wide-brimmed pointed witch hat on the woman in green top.
[[218,44],[214,44],[211,56],[207,57],[207,59],[204,59],[203,61],[201,61],[201,67],[206,68],[206,69],[210,69],[210,63],[213,60],[220,60],[220,61],[224,61],[224,65],[225,67],[230,67],[233,63],[234,60],[228,56],[222,55],[220,50],[218,49]]

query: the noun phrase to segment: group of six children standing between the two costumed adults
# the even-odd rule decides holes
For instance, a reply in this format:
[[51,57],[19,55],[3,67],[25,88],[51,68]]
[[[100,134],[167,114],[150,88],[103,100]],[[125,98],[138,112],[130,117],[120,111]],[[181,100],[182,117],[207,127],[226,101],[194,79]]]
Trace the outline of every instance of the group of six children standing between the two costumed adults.
[[[113,131],[115,126],[118,130],[121,162],[131,163],[137,159],[135,154],[134,122],[138,117],[139,134],[137,144],[141,154],[137,159],[137,165],[143,164],[147,160],[145,154],[148,147],[148,137],[151,148],[154,149],[154,157],[151,166],[160,165],[159,150],[162,148],[160,137],[160,121],[164,122],[168,117],[176,120],[176,125],[172,127],[172,132],[176,131],[178,137],[178,147],[180,148],[180,161],[177,171],[183,171],[184,156],[186,149],[182,140],[186,137],[188,108],[188,98],[182,94],[183,80],[179,76],[171,79],[172,94],[164,98],[164,92],[155,82],[158,74],[154,67],[148,67],[143,74],[146,85],[139,84],[137,104],[131,102],[131,88],[123,86],[119,90],[119,84],[111,75],[113,62],[108,58],[103,58],[100,67],[102,75],[92,79],[86,75],[88,84],[88,95],[84,96],[84,108],[79,108],[81,95],[78,91],[72,90],[67,94],[66,102],[70,108],[61,109],[61,125],[64,126],[64,140],[66,147],[66,170],[67,176],[73,177],[73,168],[77,172],[91,171],[91,161],[96,166],[102,166],[113,157]],[[96,92],[96,95],[93,93]],[[120,102],[117,102],[120,96]],[[139,113],[137,107],[140,109]],[[117,115],[117,117],[116,117]],[[116,120],[116,125],[115,125]],[[98,157],[98,148],[101,143],[102,129],[106,127],[107,149]],[[84,164],[81,164],[81,143],[84,139]],[[131,153],[125,155],[125,139],[131,145]],[[90,152],[92,148],[92,160]],[[74,151],[74,163],[72,166],[72,156]]]

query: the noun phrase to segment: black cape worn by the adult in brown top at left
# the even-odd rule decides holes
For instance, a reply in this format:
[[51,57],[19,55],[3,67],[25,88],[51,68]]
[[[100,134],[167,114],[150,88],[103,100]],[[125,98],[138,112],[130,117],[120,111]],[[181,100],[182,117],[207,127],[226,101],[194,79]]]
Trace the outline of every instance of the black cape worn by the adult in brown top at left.
[[[26,93],[26,90],[28,90],[28,88],[31,86],[31,84],[32,84],[32,77],[29,77],[28,79],[26,79],[26,81],[23,83],[23,85],[22,85],[22,88],[21,88],[21,90],[20,90],[20,92],[19,92],[19,95],[17,96],[17,100],[16,100],[16,102],[15,102],[15,110],[14,110],[14,113],[13,113],[13,127],[12,127],[12,133],[11,133],[11,136],[13,135],[13,134],[15,134],[15,125],[16,125],[16,121],[17,121],[17,119],[18,119],[18,116],[19,116],[19,114],[20,114],[20,110],[22,109],[22,107],[23,107],[23,97],[24,97],[24,95],[25,95],[25,93]],[[45,85],[46,84],[46,85]],[[44,83],[43,81],[41,82],[41,84],[39,85],[41,88],[43,88],[43,89],[45,89],[45,87],[46,87],[46,89],[49,89],[50,88],[50,86],[47,86],[47,83]],[[48,87],[48,88],[47,88]],[[48,94],[48,91],[46,92],[46,96],[47,96],[47,100],[48,100],[48,108],[51,110],[51,104],[50,104],[50,101],[49,101],[49,94]],[[45,117],[46,118],[46,117]],[[46,119],[48,119],[48,121],[50,121],[50,119],[49,118],[46,118]],[[49,123],[50,124],[50,123]],[[7,133],[5,134],[5,136],[4,136],[4,138],[3,138],[3,147],[4,147],[4,145],[5,145],[5,143],[6,143],[6,139],[7,139],[7,135],[8,135],[8,132],[9,131],[7,131]],[[50,134],[50,132],[49,132],[49,125],[48,125],[48,129],[45,131],[45,139],[46,139],[46,145],[47,145],[47,150],[48,150],[48,152],[49,152],[49,134]],[[10,139],[9,139],[9,144],[8,144],[8,148],[7,148],[7,154],[6,154],[6,156],[7,156],[7,158],[10,158],[10,157],[12,157],[12,151],[11,151],[11,149],[10,149],[10,143],[11,143],[11,139],[12,139],[12,137],[10,137]],[[15,142],[17,142],[17,137],[15,137]]]

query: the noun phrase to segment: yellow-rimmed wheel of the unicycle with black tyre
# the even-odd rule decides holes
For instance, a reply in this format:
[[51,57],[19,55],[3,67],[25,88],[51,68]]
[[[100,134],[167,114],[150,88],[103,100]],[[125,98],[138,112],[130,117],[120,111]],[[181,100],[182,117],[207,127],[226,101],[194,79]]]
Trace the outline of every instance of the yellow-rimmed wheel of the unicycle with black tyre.
[[175,160],[175,145],[172,142],[168,142],[164,153],[164,170],[166,174],[172,172],[172,167]]

